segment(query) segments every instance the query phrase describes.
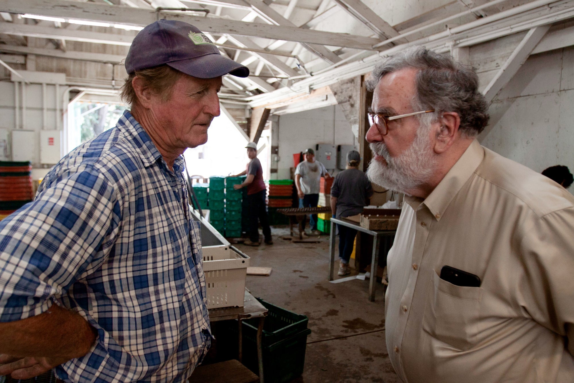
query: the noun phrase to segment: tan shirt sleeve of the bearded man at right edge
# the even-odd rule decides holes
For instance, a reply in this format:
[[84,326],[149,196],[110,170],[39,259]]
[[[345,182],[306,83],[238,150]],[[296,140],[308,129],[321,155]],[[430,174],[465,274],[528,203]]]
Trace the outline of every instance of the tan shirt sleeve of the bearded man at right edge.
[[520,244],[517,304],[525,315],[567,338],[574,355],[574,208],[546,214]]

